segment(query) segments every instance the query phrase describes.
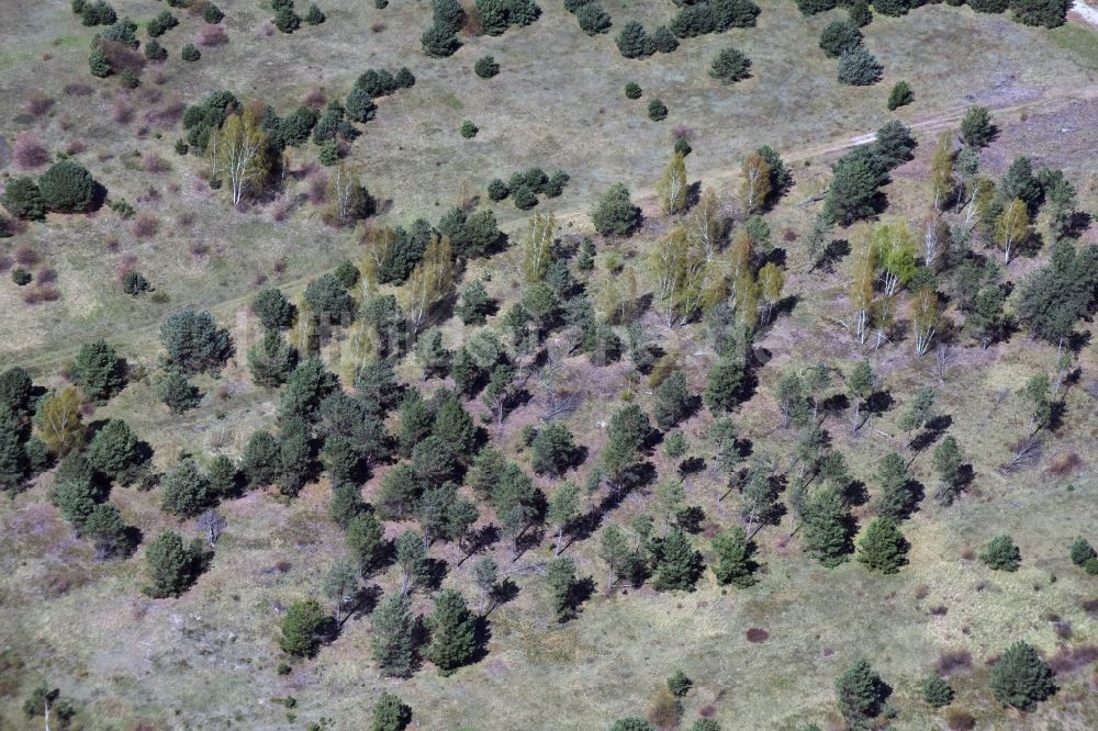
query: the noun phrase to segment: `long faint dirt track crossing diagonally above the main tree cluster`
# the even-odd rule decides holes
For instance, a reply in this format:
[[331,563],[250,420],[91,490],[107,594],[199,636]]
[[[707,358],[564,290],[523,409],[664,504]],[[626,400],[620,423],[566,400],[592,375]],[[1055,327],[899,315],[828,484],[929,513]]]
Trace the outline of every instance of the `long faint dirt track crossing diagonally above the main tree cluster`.
[[[1076,0],[1076,7],[1078,7],[1079,0]],[[1098,11],[1096,15],[1098,15]],[[1062,91],[1053,91],[1047,94],[1044,99],[1035,102],[1030,102],[1026,104],[1013,104],[1006,106],[991,106],[988,108],[993,115],[1004,115],[1010,113],[1018,113],[1021,110],[1028,110],[1030,112],[1039,111],[1051,111],[1054,109],[1061,109],[1064,106],[1069,106],[1074,103],[1080,101],[1088,101],[1098,99],[1098,85],[1090,87],[1083,87],[1082,89],[1065,89]],[[911,122],[909,126],[915,132],[921,133],[933,133],[941,130],[955,126],[960,123],[961,117],[964,115],[965,106],[957,106],[952,110],[943,111],[932,116],[919,120],[917,122]],[[822,157],[826,155],[831,155],[834,153],[841,153],[842,150],[850,149],[852,147],[858,147],[859,145],[866,145],[872,143],[876,138],[875,133],[865,133],[849,137],[841,137],[837,139],[831,139],[826,143],[820,143],[817,145],[811,145],[808,147],[803,147],[795,150],[782,150],[782,157],[786,162],[800,162],[807,159]],[[714,185],[717,188],[726,187],[729,181],[732,181],[739,177],[739,169],[733,168],[721,168],[714,170],[706,170],[701,173],[695,173],[696,177],[706,185]],[[642,188],[635,189],[634,195],[638,202],[649,202],[654,200],[656,190],[654,188]],[[589,214],[586,210],[581,211],[557,211],[558,223],[574,222],[576,224],[582,224],[586,221]],[[512,222],[504,223],[501,228],[505,233],[515,233],[522,230],[526,226],[526,220],[520,218]],[[300,278],[296,280],[291,280],[282,282],[279,286],[288,293],[296,293],[302,290],[305,284],[323,272],[313,272],[309,277]],[[247,302],[250,295],[244,297],[234,297],[231,300],[223,300],[221,302],[212,302],[206,305],[213,314],[222,322],[229,322],[234,318],[234,315],[247,306]],[[128,347],[123,348],[123,351],[138,352],[144,347],[156,349],[157,346],[157,334],[159,333],[160,324],[159,322],[149,325],[141,325],[134,327],[130,330]],[[42,350],[38,352],[7,352],[0,355],[0,363],[9,364],[20,364],[32,371],[36,371],[40,376],[51,375],[53,372],[58,370],[64,363],[67,363],[76,355],[76,351],[83,345],[85,341],[91,341],[97,339],[97,335],[89,335],[86,340],[70,341],[65,347],[51,347],[47,350]],[[135,347],[136,346],[136,347]]]

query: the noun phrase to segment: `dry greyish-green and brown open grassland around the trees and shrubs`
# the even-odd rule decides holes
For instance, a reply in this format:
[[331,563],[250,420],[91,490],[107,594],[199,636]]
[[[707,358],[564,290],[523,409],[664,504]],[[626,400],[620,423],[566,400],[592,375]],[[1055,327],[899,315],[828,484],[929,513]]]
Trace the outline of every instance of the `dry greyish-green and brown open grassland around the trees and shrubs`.
[[[82,140],[87,151],[78,157],[112,195],[135,202],[161,224],[158,234],[139,239],[128,224],[102,211],[52,217],[48,225],[4,241],[11,250],[31,246],[57,271],[57,302],[27,306],[7,279],[0,285],[7,315],[0,322],[0,366],[26,364],[42,382],[64,382],[64,366],[76,347],[99,336],[150,373],[159,322],[188,304],[210,307],[231,327],[243,353],[257,331],[246,304],[260,277],[294,291],[356,256],[356,236],[324,226],[306,203],[311,180],[320,173],[304,155],[284,220],[274,220],[270,204],[234,212],[223,191],[201,181],[200,160],[172,153],[178,124],[144,121],[147,112],[190,103],[220,87],[242,98],[261,97],[285,112],[316,87],[329,98],[344,95],[365,68],[408,66],[416,86],[379,101],[378,120],[352,153],[370,190],[393,201],[381,216],[391,223],[416,215],[437,220],[462,187],[482,190],[493,177],[540,165],[571,173],[572,182],[552,207],[569,226],[567,233],[581,232],[587,229],[585,213],[594,194],[627,181],[653,215],[637,236],[601,247],[595,285],[607,275],[606,257],[639,262],[669,225],[654,215],[651,189],[665,165],[672,130],[690,128],[691,179],[717,185],[731,207],[743,154],[773,145],[796,164],[796,187],[768,218],[775,238],[783,239],[787,292],[798,302],[758,341],[774,359],[760,370],[760,387],[737,421],[758,451],[777,456],[787,454],[795,438],[776,428],[771,394],[780,370],[820,359],[848,363],[862,355],[826,317],[845,307],[849,265],[826,274],[803,273],[797,237],[816,209],[798,203],[825,187],[827,164],[840,148],[892,119],[884,97],[893,82],[906,79],[916,91],[916,102],[895,116],[914,124],[922,144],[917,158],[893,176],[888,215],[914,222],[925,214],[933,137],[972,103],[1001,110],[999,138],[985,156],[989,171],[1000,173],[1016,155],[1027,154],[1035,162],[1063,167],[1079,190],[1080,207],[1098,206],[1093,157],[1098,130],[1088,123],[1098,113],[1095,36],[1075,26],[1038,31],[1007,16],[946,5],[903,19],[877,16],[865,29],[866,45],[886,76],[877,86],[853,89],[834,81],[832,63],[816,49],[819,30],[838,12],[805,20],[789,2],[760,3],[757,29],[686,41],[674,54],[626,61],[612,36],[589,38],[549,2],[541,20],[527,29],[463,38],[453,57],[432,60],[419,50],[419,33],[429,22],[425,2],[394,1],[379,11],[371,3],[333,0],[323,5],[324,25],[268,36],[261,30],[266,3],[224,0],[228,44],[206,49],[200,63],[186,67],[173,53],[164,83],[146,81],[124,93],[88,78],[82,38],[90,31],[67,7],[13,4],[10,47],[0,53],[5,78],[0,109],[13,112],[0,120],[0,134],[10,139],[33,130],[54,149]],[[150,0],[114,4],[120,14],[134,18],[163,8]],[[671,3],[623,2],[607,10],[616,24],[637,18],[647,25],[668,18]],[[181,43],[199,23],[186,19],[168,38]],[[372,31],[376,23],[384,29]],[[752,58],[753,78],[722,88],[705,71],[710,56],[728,43]],[[959,48],[964,49],[961,58]],[[471,67],[488,53],[503,71],[485,81]],[[624,99],[621,88],[629,80],[645,89],[642,100]],[[64,93],[63,87],[74,82],[93,92]],[[33,89],[54,100],[51,111],[37,117],[22,112]],[[109,122],[120,97],[133,108],[130,123]],[[666,122],[652,123],[645,115],[653,97],[671,109]],[[480,125],[475,139],[458,135],[462,119]],[[141,133],[141,127],[147,130]],[[159,156],[170,170],[147,171],[134,151],[142,160]],[[527,214],[506,201],[493,207],[506,230],[522,230]],[[785,230],[794,233],[793,240],[783,238]],[[1088,236],[1094,240],[1095,230]],[[520,286],[515,257],[508,251],[478,262],[469,275],[490,271],[491,293],[513,300]],[[167,294],[166,302],[134,301],[119,291],[116,271],[133,258]],[[1041,259],[1016,262],[1009,278],[1019,279]],[[276,262],[284,263],[276,268]],[[713,361],[702,328],[668,331],[654,314],[646,317],[663,347],[681,355],[691,386],[699,390]],[[456,320],[444,324],[444,331],[450,347],[462,337]],[[855,563],[820,567],[789,538],[788,518],[760,533],[761,582],[748,591],[724,589],[709,574],[691,594],[598,591],[580,619],[558,627],[540,580],[517,574],[517,598],[490,616],[486,657],[449,677],[424,670],[410,681],[380,679],[369,656],[365,617],[354,617],[338,639],[291,675],[276,673],[282,660],[272,641],[278,609],[315,593],[316,577],[344,550],[327,519],[325,481],[307,486],[292,503],[268,493],[225,503],[221,509],[228,528],[211,570],[181,598],[150,600],[139,593],[141,552],[125,561],[96,561],[87,542],[74,538],[48,505],[46,476],[0,502],[0,728],[25,728],[18,699],[47,677],[83,709],[78,720],[89,729],[299,729],[321,718],[330,719],[332,728],[362,728],[382,689],[397,691],[424,729],[598,729],[621,716],[642,715],[651,693],[680,666],[696,683],[685,701],[684,726],[704,712],[726,729],[791,729],[811,720],[840,728],[834,678],[854,657],[866,656],[895,689],[893,728],[921,730],[943,728],[943,721],[918,697],[917,683],[951,653],[971,657],[953,668],[950,682],[957,691],[955,705],[974,715],[977,728],[1098,727],[1094,659],[1073,661],[1098,644],[1098,589],[1067,560],[1071,539],[1087,531],[1093,537],[1098,524],[1094,398],[1082,385],[1069,390],[1063,426],[1041,460],[1005,473],[1000,465],[1026,428],[1012,394],[1030,374],[1052,368],[1052,348],[1017,335],[986,352],[955,349],[943,382],[932,358],[914,358],[907,342],[871,357],[883,387],[899,405],[919,386],[937,386],[939,409],[952,417],[950,432],[976,472],[972,490],[956,505],[942,508],[927,499],[905,524],[911,561],[898,575],[870,574]],[[1084,349],[1078,366],[1085,374],[1098,370],[1093,347]],[[575,359],[565,368],[585,395],[569,425],[592,454],[605,442],[600,423],[624,392],[650,411],[650,394],[634,387],[624,364],[593,373]],[[411,363],[402,373],[410,381],[418,376]],[[273,418],[277,396],[250,384],[240,357],[220,379],[199,381],[209,395],[183,417],[166,416],[152,383],[150,375],[135,378],[94,418],[123,416],[156,449],[158,466],[184,451],[238,454],[247,435]],[[1000,403],[1002,392],[1008,396]],[[536,420],[540,407],[536,395],[508,417],[502,441],[520,461],[527,456],[518,451],[518,427]],[[485,409],[473,402],[470,411],[479,416]],[[838,417],[827,424],[871,494],[876,460],[897,447],[897,412],[875,419],[875,430],[863,429],[856,439]],[[709,420],[699,414],[684,425],[692,453],[703,454]],[[1068,459],[1073,454],[1077,461]],[[661,475],[672,473],[674,465],[662,453],[650,459]],[[582,481],[592,461],[570,476]],[[932,484],[927,454],[917,456],[912,469],[925,485]],[[363,486],[367,499],[379,477]],[[704,535],[736,520],[736,498],[717,501],[721,490],[715,471],[693,475],[687,491],[706,511]],[[181,525],[184,532],[195,532],[164,515],[157,497],[123,488],[112,494],[127,522],[146,537]],[[650,499],[648,493],[630,495],[605,520],[625,522]],[[864,518],[870,510],[855,515]],[[391,524],[388,532],[406,527]],[[990,572],[971,558],[1000,532],[1019,543],[1023,566],[1017,573]],[[493,550],[502,564],[504,553]],[[451,563],[458,559],[448,546],[435,547],[434,554]],[[524,561],[550,554],[546,540]],[[569,554],[601,587],[603,565],[594,541],[576,542]],[[378,580],[385,591],[395,583],[392,572]],[[451,566],[445,584],[472,595],[468,562]],[[426,598],[417,601],[421,610],[428,609]],[[749,641],[752,628],[765,630],[768,639]],[[1062,671],[1057,695],[1024,716],[1000,708],[986,687],[987,661],[1016,638],[1058,657]],[[291,696],[296,706],[288,715],[281,699]]]

